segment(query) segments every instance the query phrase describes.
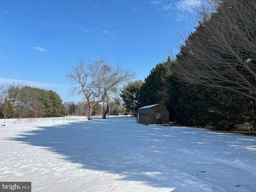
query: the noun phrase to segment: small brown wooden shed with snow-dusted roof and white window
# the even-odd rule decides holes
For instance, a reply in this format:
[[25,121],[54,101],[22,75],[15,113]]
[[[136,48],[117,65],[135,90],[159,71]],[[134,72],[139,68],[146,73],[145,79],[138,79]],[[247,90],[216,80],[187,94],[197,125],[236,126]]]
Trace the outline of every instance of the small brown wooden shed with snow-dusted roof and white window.
[[159,104],[141,107],[137,111],[137,123],[145,125],[169,123],[169,112],[165,106]]

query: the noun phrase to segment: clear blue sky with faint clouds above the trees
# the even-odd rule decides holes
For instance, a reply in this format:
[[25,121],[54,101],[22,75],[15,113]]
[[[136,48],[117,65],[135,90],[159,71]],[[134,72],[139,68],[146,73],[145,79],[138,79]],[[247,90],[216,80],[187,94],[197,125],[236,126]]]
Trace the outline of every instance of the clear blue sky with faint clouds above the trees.
[[[195,24],[197,0],[8,0],[0,6],[0,84],[68,96],[75,59],[108,57],[137,79],[168,57],[178,33]],[[135,80],[135,79],[132,79]]]

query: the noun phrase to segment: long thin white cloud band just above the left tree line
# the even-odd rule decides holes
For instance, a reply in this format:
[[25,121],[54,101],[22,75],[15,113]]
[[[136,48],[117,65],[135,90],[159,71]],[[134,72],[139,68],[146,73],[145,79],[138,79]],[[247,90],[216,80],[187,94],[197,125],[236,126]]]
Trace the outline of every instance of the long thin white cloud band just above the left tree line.
[[44,82],[9,79],[9,78],[0,77],[0,84],[12,84],[12,83],[22,84],[22,85],[31,86],[31,87],[40,87],[40,88],[66,88],[67,87],[62,84],[44,83]]

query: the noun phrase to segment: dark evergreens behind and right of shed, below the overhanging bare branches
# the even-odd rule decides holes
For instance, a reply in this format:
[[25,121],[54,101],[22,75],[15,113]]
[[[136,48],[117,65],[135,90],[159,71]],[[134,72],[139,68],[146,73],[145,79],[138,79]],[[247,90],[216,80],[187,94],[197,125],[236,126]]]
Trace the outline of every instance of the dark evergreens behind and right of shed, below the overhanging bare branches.
[[120,96],[127,110],[136,116],[142,106],[162,104],[168,108],[170,121],[178,124],[254,130],[255,102],[221,88],[178,82],[174,74],[167,74],[162,67],[170,68],[172,64],[168,58],[157,64],[144,82],[136,80],[122,88]]

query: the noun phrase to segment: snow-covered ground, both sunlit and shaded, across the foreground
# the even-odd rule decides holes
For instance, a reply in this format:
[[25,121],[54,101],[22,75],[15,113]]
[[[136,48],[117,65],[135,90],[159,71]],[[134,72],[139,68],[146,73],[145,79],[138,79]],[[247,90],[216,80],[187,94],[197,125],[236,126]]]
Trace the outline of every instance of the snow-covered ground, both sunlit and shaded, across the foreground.
[[256,137],[128,116],[8,119],[0,181],[32,192],[255,192]]

